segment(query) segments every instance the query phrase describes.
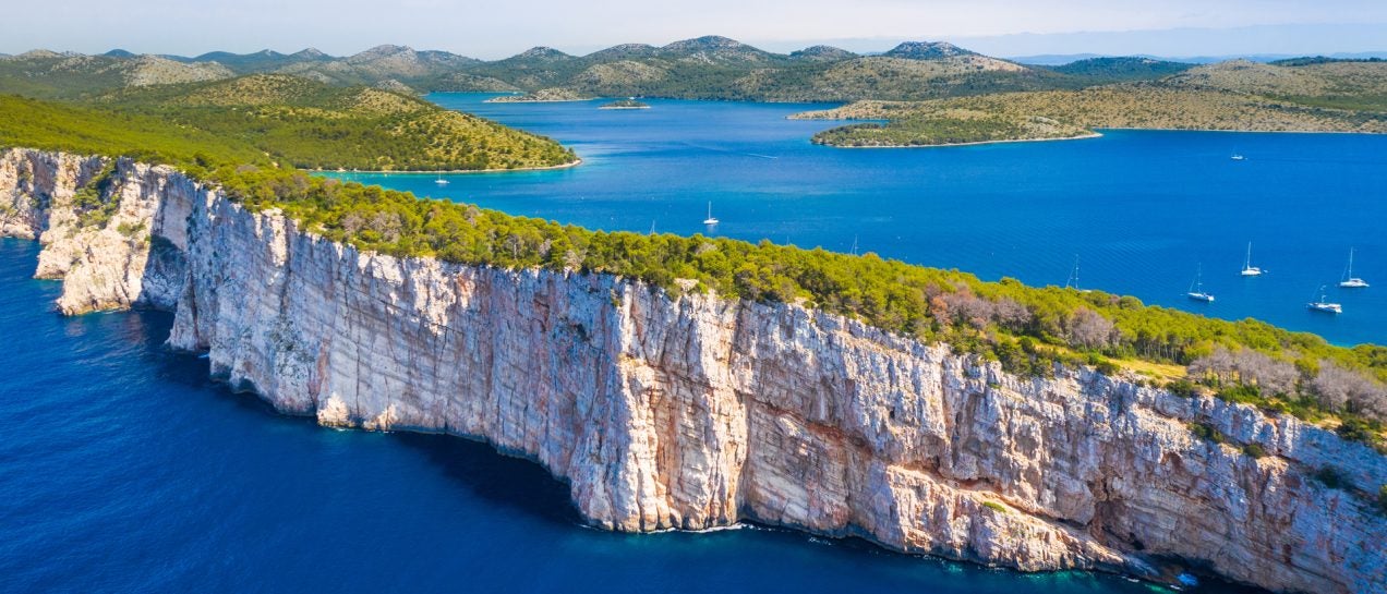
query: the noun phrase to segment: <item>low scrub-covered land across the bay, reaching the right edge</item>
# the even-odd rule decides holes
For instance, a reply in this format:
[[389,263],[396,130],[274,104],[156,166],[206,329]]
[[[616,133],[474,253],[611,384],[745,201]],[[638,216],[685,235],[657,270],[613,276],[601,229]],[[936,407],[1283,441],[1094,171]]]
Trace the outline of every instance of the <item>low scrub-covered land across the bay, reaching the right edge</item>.
[[1387,132],[1387,65],[1375,61],[1219,62],[1154,82],[929,101],[857,101],[802,119],[885,119],[816,143],[938,146],[1092,136],[1103,128]]

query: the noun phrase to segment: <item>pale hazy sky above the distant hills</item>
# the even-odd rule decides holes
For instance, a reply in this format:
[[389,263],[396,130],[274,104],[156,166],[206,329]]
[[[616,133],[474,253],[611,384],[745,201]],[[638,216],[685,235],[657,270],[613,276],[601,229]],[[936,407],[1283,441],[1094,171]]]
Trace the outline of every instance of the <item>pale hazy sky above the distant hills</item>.
[[[1101,35],[1172,28],[1236,29],[1169,39]],[[1015,35],[1075,32],[1086,33]],[[886,50],[904,39],[971,40],[978,50],[1000,56],[1369,51],[1387,50],[1387,0],[695,0],[673,6],[660,0],[58,0],[8,8],[0,18],[0,51],[122,47],[200,54],[312,46],[351,54],[398,43],[498,58],[537,44],[581,54],[616,43],[664,44],[714,33],[781,51],[820,42]]]

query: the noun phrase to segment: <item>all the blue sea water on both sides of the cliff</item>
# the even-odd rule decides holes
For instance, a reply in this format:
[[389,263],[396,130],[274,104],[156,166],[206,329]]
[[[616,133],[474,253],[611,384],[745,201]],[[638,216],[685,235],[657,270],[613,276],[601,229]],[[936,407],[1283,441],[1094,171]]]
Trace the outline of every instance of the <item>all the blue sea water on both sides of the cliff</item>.
[[[1387,137],[1112,132],[931,150],[807,143],[813,105],[436,101],[551,135],[565,171],[358,176],[605,229],[710,232],[878,251],[1080,285],[1336,341],[1387,336]],[[1233,153],[1247,155],[1232,161]],[[706,230],[706,203],[724,222]],[[1236,275],[1246,243],[1264,278]],[[1338,318],[1302,303],[1350,246],[1380,287]],[[455,437],[338,432],[276,415],[166,353],[166,314],[62,318],[36,244],[0,240],[0,591],[1164,591],[1086,573],[1019,575],[766,529],[585,529],[538,466]],[[1198,309],[1197,309],[1198,311]],[[1209,584],[1200,591],[1232,593]]]

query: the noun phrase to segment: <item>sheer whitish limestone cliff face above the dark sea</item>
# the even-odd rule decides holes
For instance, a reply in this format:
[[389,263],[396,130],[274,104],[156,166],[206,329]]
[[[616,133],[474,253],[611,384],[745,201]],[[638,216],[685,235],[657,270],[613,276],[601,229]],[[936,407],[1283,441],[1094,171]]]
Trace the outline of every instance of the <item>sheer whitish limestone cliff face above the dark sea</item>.
[[569,482],[595,526],[753,519],[1022,570],[1387,586],[1387,520],[1309,479],[1334,465],[1376,491],[1387,458],[1293,418],[1015,377],[796,305],[361,253],[128,161],[110,222],[82,228],[72,196],[101,167],[0,154],[0,232],[43,243],[64,312],[173,309],[172,347],[280,411],[485,439]]

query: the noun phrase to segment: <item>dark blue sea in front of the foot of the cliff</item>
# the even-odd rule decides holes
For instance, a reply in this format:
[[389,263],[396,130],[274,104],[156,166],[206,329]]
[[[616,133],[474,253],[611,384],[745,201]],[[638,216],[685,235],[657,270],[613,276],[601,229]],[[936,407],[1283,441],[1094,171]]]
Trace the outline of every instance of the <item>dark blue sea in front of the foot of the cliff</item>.
[[1168,591],[784,530],[587,529],[565,484],[485,444],[232,394],[161,347],[169,314],[60,316],[36,255],[0,239],[0,591]]

